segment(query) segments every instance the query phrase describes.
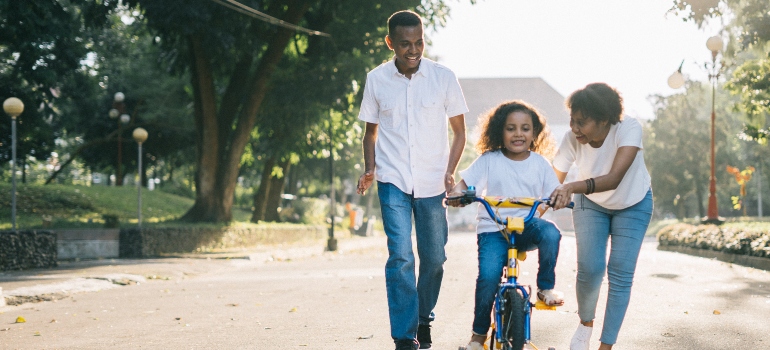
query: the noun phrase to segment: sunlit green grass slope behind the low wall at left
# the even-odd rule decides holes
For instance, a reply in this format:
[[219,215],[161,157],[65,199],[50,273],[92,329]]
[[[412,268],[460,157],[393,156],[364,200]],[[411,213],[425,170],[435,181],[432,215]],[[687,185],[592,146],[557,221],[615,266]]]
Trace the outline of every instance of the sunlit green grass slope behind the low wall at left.
[[[16,223],[19,229],[43,227],[49,217],[51,228],[100,228],[103,215],[118,217],[121,226],[137,223],[137,189],[134,186],[75,186],[17,184]],[[142,190],[142,224],[147,226],[190,225],[177,221],[193,200],[162,191]],[[233,219],[248,225],[251,213],[233,208]],[[225,224],[210,224],[226,226]],[[0,183],[0,230],[11,228],[11,185]]]

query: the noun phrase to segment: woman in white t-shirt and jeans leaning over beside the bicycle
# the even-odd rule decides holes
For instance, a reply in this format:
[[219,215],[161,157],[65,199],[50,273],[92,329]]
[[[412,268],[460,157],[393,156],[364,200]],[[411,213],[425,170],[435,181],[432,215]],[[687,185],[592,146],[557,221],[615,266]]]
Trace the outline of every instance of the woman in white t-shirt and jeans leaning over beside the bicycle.
[[[604,83],[589,84],[573,92],[567,108],[572,132],[565,135],[553,160],[562,185],[553,191],[551,200],[557,210],[571,199],[575,202],[572,218],[577,240],[580,324],[570,349],[589,349],[606,271],[609,292],[599,349],[608,350],[617,340],[628,308],[636,261],[652,216],[642,126],[636,119],[623,119],[623,98]],[[579,180],[564,183],[573,164]],[[608,240],[609,261],[605,258]]]

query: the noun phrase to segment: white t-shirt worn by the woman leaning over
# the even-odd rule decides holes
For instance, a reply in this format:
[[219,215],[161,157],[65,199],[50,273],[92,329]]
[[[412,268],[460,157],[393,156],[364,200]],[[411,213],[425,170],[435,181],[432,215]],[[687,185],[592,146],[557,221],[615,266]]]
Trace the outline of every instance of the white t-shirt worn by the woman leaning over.
[[572,132],[564,135],[564,139],[553,159],[554,168],[559,171],[569,171],[572,163],[578,169],[577,178],[585,180],[592,177],[607,175],[612,169],[612,162],[618,148],[623,146],[639,147],[634,162],[628,168],[618,188],[611,191],[595,192],[588,198],[607,209],[618,210],[639,203],[650,189],[650,174],[644,165],[644,148],[642,147],[642,125],[634,118],[623,118],[622,121],[610,127],[607,138],[599,148],[591,145],[581,145]]

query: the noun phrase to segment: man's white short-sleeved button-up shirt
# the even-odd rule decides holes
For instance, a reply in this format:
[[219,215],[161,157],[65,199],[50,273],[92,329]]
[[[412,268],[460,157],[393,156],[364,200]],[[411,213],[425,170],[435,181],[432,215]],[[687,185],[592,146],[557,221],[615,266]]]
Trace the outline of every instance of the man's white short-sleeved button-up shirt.
[[379,124],[377,181],[416,198],[442,194],[449,162],[448,120],[467,112],[455,74],[427,58],[412,79],[398,72],[395,60],[369,72],[358,119]]

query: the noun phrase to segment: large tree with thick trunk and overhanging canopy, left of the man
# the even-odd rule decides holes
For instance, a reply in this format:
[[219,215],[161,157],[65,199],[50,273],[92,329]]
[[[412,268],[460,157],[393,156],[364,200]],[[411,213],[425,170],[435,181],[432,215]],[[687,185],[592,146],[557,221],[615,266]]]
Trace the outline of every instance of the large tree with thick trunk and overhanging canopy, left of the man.
[[[195,204],[184,218],[229,221],[245,146],[258,125],[258,112],[270,89],[271,77],[296,34],[211,1],[128,3],[144,11],[147,23],[162,39],[169,57],[174,58],[177,71],[190,72],[197,130],[197,185]],[[335,37],[335,33],[349,31],[351,23],[382,25],[387,14],[417,7],[420,1],[270,0],[247,4],[285,23],[314,30],[329,28],[332,41],[312,37],[308,39],[308,49],[333,51],[355,46]],[[443,16],[435,11],[442,7],[430,4],[425,13]],[[365,41],[365,34],[347,38]],[[360,51],[354,53],[365,55]]]

